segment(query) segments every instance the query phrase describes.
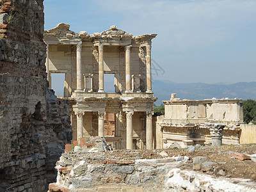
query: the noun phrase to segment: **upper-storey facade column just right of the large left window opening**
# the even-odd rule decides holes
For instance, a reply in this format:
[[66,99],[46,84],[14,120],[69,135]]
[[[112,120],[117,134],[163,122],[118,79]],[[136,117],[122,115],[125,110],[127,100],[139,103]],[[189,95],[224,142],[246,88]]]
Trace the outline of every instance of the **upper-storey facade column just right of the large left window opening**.
[[76,45],[76,90],[82,91],[82,44]]

